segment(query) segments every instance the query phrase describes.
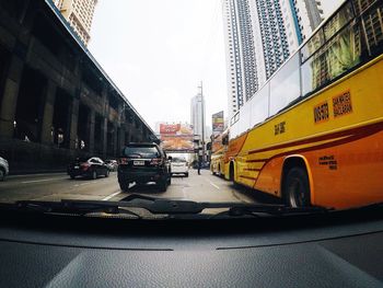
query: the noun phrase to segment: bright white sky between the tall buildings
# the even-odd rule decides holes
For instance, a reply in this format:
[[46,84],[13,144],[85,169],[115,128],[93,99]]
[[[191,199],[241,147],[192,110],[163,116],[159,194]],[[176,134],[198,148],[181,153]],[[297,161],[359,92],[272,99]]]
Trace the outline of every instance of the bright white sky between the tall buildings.
[[206,123],[227,110],[220,0],[100,0],[89,49],[143,119],[190,122],[204,83]]

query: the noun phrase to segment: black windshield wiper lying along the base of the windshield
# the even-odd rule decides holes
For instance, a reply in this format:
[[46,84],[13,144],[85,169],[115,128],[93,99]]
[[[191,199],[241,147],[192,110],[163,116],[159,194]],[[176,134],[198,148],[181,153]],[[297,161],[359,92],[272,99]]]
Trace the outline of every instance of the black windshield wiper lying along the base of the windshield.
[[[61,201],[36,201],[21,200],[15,203],[20,209],[35,210],[40,212],[60,212],[88,215],[94,212],[105,214],[129,214],[141,218],[140,215],[131,211],[129,208],[141,208],[152,215],[199,215],[205,209],[225,209],[223,212],[213,216],[283,216],[297,214],[321,214],[329,209],[321,207],[291,208],[285,205],[267,204],[244,204],[244,203],[197,203],[192,200],[174,200],[166,198],[155,198],[139,194],[131,194],[120,201],[103,200],[72,200],[62,199]],[[211,215],[209,215],[211,216]]]

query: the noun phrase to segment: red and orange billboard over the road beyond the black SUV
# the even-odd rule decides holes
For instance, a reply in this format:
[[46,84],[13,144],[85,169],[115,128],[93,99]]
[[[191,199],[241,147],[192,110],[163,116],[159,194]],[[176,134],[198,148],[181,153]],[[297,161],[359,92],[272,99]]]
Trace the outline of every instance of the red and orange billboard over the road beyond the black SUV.
[[188,124],[160,124],[161,146],[166,152],[194,152],[194,131]]

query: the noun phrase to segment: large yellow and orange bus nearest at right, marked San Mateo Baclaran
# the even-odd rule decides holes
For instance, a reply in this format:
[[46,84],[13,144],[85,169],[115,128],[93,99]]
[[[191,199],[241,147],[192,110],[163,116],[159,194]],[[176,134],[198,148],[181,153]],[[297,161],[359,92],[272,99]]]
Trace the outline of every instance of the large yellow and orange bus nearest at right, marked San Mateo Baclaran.
[[346,1],[230,123],[224,176],[292,207],[383,201],[383,0]]

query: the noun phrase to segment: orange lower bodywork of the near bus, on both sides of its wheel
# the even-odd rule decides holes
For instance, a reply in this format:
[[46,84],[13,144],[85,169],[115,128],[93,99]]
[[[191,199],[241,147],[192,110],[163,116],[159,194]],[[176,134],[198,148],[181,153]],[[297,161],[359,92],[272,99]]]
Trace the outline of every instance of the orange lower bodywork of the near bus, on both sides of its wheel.
[[283,161],[291,154],[306,160],[312,205],[343,209],[382,201],[383,123],[360,127],[348,137],[277,153],[262,164],[254,188],[281,197]]

